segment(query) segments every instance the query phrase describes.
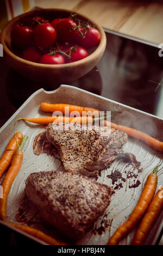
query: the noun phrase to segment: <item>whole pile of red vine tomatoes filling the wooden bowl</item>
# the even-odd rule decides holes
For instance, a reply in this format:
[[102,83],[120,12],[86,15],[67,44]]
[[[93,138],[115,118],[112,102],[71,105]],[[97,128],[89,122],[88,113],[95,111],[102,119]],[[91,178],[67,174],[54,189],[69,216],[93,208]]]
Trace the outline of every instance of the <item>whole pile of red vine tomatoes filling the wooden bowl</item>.
[[[68,18],[34,16],[12,29],[11,41],[21,48],[22,58],[42,64],[65,64],[89,56],[87,49],[101,40],[98,29],[76,14]],[[24,50],[25,49],[25,50]]]

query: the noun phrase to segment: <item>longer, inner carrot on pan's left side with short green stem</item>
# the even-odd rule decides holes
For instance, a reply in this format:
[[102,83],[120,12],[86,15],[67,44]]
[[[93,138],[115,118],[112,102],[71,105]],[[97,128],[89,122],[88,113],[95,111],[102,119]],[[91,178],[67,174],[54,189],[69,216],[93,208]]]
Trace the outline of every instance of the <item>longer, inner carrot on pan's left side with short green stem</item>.
[[28,136],[24,136],[21,142],[21,145],[18,147],[18,149],[16,149],[14,155],[12,156],[11,165],[8,169],[7,174],[5,174],[1,184],[3,187],[3,198],[0,199],[0,218],[2,221],[6,220],[6,216],[7,216],[6,207],[7,207],[8,194],[9,194],[12,182],[14,181],[18,171],[21,168],[21,164],[23,160],[22,147],[24,143],[26,143],[27,139],[28,139]]

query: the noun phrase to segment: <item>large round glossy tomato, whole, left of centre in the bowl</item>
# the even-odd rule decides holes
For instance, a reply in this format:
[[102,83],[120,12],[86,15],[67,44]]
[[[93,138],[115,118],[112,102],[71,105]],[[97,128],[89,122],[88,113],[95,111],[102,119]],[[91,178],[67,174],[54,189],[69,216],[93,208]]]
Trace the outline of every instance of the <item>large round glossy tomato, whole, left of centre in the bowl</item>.
[[35,27],[34,39],[37,46],[48,48],[57,40],[57,32],[51,23],[45,22]]

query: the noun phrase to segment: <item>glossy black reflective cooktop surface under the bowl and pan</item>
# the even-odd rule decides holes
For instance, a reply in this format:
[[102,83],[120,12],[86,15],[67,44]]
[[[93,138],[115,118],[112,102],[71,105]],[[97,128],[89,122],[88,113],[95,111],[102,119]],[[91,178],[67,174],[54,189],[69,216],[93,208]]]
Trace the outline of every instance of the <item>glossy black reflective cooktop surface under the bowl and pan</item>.
[[[163,118],[163,57],[159,57],[159,48],[107,31],[106,36],[106,50],[98,65],[69,84]],[[4,57],[0,65],[0,127],[37,89],[54,90],[60,85],[31,81],[11,69]],[[3,237],[5,240],[4,233]],[[13,243],[11,237],[7,243],[10,240]]]

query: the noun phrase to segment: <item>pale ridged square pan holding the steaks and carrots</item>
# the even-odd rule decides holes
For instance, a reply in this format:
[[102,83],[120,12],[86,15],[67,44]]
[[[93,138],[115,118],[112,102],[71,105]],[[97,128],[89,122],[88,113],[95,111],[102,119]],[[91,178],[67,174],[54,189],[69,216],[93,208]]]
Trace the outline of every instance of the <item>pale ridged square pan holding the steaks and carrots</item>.
[[[3,153],[9,139],[13,136],[14,123],[17,118],[36,118],[47,115],[40,111],[40,103],[42,101],[90,106],[98,108],[101,111],[120,111],[121,113],[112,119],[112,121],[117,124],[134,127],[135,129],[147,132],[149,135],[163,140],[163,119],[106,99],[105,97],[86,92],[85,90],[68,85],[61,85],[58,89],[53,90],[52,92],[46,92],[43,89],[37,90],[23,103],[14,115],[12,115],[7,123],[3,125],[0,130],[0,155]],[[59,160],[47,156],[46,154],[36,156],[33,153],[34,138],[39,132],[44,130],[44,127],[19,121],[17,123],[17,130],[23,132],[23,135],[28,135],[29,139],[23,148],[24,159],[21,170],[12,184],[8,197],[7,222],[11,221],[14,223],[18,223],[15,219],[15,214],[22,202],[25,187],[24,181],[28,175],[32,172],[39,172],[41,170],[59,170],[62,168]],[[143,170],[138,173],[132,165],[120,160],[114,161],[108,169],[102,170],[98,181],[116,188],[115,194],[112,196],[111,203],[104,214],[99,217],[92,230],[87,232],[83,239],[77,242],[78,245],[105,245],[109,237],[124,221],[126,221],[131,211],[134,209],[137,200],[139,200],[147,175],[152,172],[156,165],[161,164],[161,166],[163,166],[162,154],[137,139],[128,138],[128,142],[124,146],[124,151],[135,154],[137,161],[141,162]],[[115,171],[121,175],[119,175],[120,179],[113,181],[110,177],[111,173],[115,173]],[[162,174],[163,170],[160,170],[158,173],[157,189],[163,185]],[[137,181],[139,182],[137,183]],[[139,186],[135,186],[135,184],[139,184]],[[145,245],[155,245],[163,227],[162,217],[163,211],[148,234],[147,239],[144,242]],[[3,221],[0,221],[0,223],[7,225],[11,229],[17,230]],[[33,227],[38,228],[38,225],[35,226],[35,224],[33,224]],[[45,230],[43,227],[39,228],[49,234],[49,229]],[[43,245],[46,244],[23,231],[18,232]],[[134,232],[135,229],[124,237],[119,244],[130,245]]]

